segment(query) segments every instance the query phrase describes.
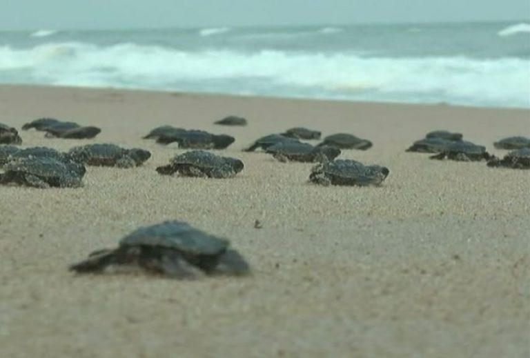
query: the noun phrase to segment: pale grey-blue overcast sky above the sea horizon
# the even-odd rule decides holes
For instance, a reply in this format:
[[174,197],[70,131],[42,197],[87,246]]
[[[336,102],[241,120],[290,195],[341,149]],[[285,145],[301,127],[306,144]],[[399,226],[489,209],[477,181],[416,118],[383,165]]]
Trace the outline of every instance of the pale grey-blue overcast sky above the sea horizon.
[[530,19],[530,0],[0,0],[0,29]]

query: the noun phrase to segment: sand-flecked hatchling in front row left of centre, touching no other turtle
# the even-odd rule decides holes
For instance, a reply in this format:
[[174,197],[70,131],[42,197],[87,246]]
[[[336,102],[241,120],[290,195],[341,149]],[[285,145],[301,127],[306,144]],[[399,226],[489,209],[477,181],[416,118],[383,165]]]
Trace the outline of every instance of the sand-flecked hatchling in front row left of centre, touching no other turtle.
[[162,175],[186,177],[231,178],[242,171],[243,162],[230,157],[220,157],[204,150],[192,150],[176,155],[167,166],[159,166],[157,172]]

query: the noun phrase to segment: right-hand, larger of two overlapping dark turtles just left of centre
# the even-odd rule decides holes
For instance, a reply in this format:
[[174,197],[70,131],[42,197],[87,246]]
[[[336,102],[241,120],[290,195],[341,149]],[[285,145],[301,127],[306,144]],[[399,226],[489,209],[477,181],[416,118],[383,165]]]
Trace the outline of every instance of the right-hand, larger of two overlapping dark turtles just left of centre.
[[235,141],[229,135],[213,135],[204,130],[175,131],[161,135],[157,143],[177,142],[179,148],[185,149],[224,149]]

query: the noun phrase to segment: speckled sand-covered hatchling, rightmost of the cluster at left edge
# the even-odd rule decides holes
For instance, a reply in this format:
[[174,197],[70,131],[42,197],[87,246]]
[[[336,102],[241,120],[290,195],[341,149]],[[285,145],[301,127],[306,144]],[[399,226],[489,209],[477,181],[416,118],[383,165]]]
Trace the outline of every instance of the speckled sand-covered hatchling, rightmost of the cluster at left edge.
[[117,166],[118,168],[140,166],[151,157],[148,150],[125,149],[111,143],[74,147],[70,149],[68,155],[72,160],[87,166]]

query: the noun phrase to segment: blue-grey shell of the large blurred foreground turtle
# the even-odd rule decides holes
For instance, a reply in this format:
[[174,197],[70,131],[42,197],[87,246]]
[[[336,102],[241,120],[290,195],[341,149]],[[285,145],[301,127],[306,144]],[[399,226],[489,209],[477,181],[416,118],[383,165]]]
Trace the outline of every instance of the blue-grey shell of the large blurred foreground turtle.
[[161,246],[188,255],[221,255],[229,241],[193,228],[184,221],[164,221],[126,235],[119,246]]

